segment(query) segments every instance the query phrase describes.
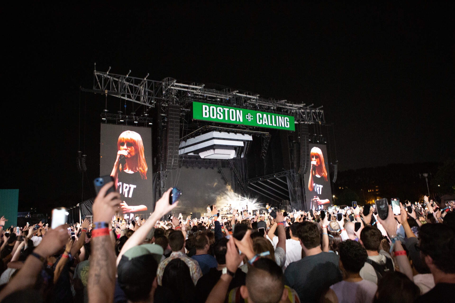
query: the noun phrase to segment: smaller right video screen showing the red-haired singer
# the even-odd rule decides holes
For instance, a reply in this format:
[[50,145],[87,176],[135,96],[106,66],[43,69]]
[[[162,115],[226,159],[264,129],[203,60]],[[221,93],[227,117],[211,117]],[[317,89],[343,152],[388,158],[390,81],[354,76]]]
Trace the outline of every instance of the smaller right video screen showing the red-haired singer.
[[322,144],[309,144],[309,167],[304,174],[307,209],[332,205],[327,149]]

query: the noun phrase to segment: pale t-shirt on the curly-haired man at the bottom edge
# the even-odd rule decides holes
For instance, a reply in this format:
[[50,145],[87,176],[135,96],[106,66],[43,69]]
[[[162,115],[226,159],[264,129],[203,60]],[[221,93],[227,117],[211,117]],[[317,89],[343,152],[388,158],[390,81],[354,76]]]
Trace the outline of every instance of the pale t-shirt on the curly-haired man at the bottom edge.
[[378,286],[371,281],[340,281],[330,286],[339,303],[372,303]]

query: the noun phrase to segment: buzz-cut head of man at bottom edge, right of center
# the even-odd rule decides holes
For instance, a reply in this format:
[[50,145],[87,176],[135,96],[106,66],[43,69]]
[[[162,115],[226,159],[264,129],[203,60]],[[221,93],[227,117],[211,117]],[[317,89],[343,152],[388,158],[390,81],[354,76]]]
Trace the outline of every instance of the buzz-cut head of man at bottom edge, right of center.
[[273,260],[260,258],[248,269],[245,285],[254,303],[278,303],[283,296],[283,271]]

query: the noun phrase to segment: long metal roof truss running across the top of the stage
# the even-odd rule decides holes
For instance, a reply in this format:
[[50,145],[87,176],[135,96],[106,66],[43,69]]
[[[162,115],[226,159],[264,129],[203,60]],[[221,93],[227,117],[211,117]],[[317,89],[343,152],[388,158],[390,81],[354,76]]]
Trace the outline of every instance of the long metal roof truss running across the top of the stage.
[[168,103],[179,103],[184,109],[191,109],[193,101],[211,104],[224,104],[238,108],[255,109],[277,114],[294,116],[296,123],[325,124],[322,106],[312,108],[313,104],[294,104],[287,100],[260,98],[258,94],[233,89],[208,89],[205,84],[177,83],[176,79],[166,78],[162,81],[110,74],[109,71],[93,71],[93,89],[84,91],[115,96],[130,100],[148,107],[155,107],[156,102],[166,106]]

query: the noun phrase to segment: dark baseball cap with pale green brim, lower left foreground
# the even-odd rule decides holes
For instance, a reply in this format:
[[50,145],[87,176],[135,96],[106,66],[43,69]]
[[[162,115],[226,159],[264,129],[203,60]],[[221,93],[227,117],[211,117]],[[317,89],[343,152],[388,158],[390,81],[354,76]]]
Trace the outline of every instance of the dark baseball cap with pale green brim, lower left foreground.
[[142,244],[128,249],[117,266],[118,282],[130,284],[141,277],[141,273],[155,277],[163,253],[163,248],[157,244]]

